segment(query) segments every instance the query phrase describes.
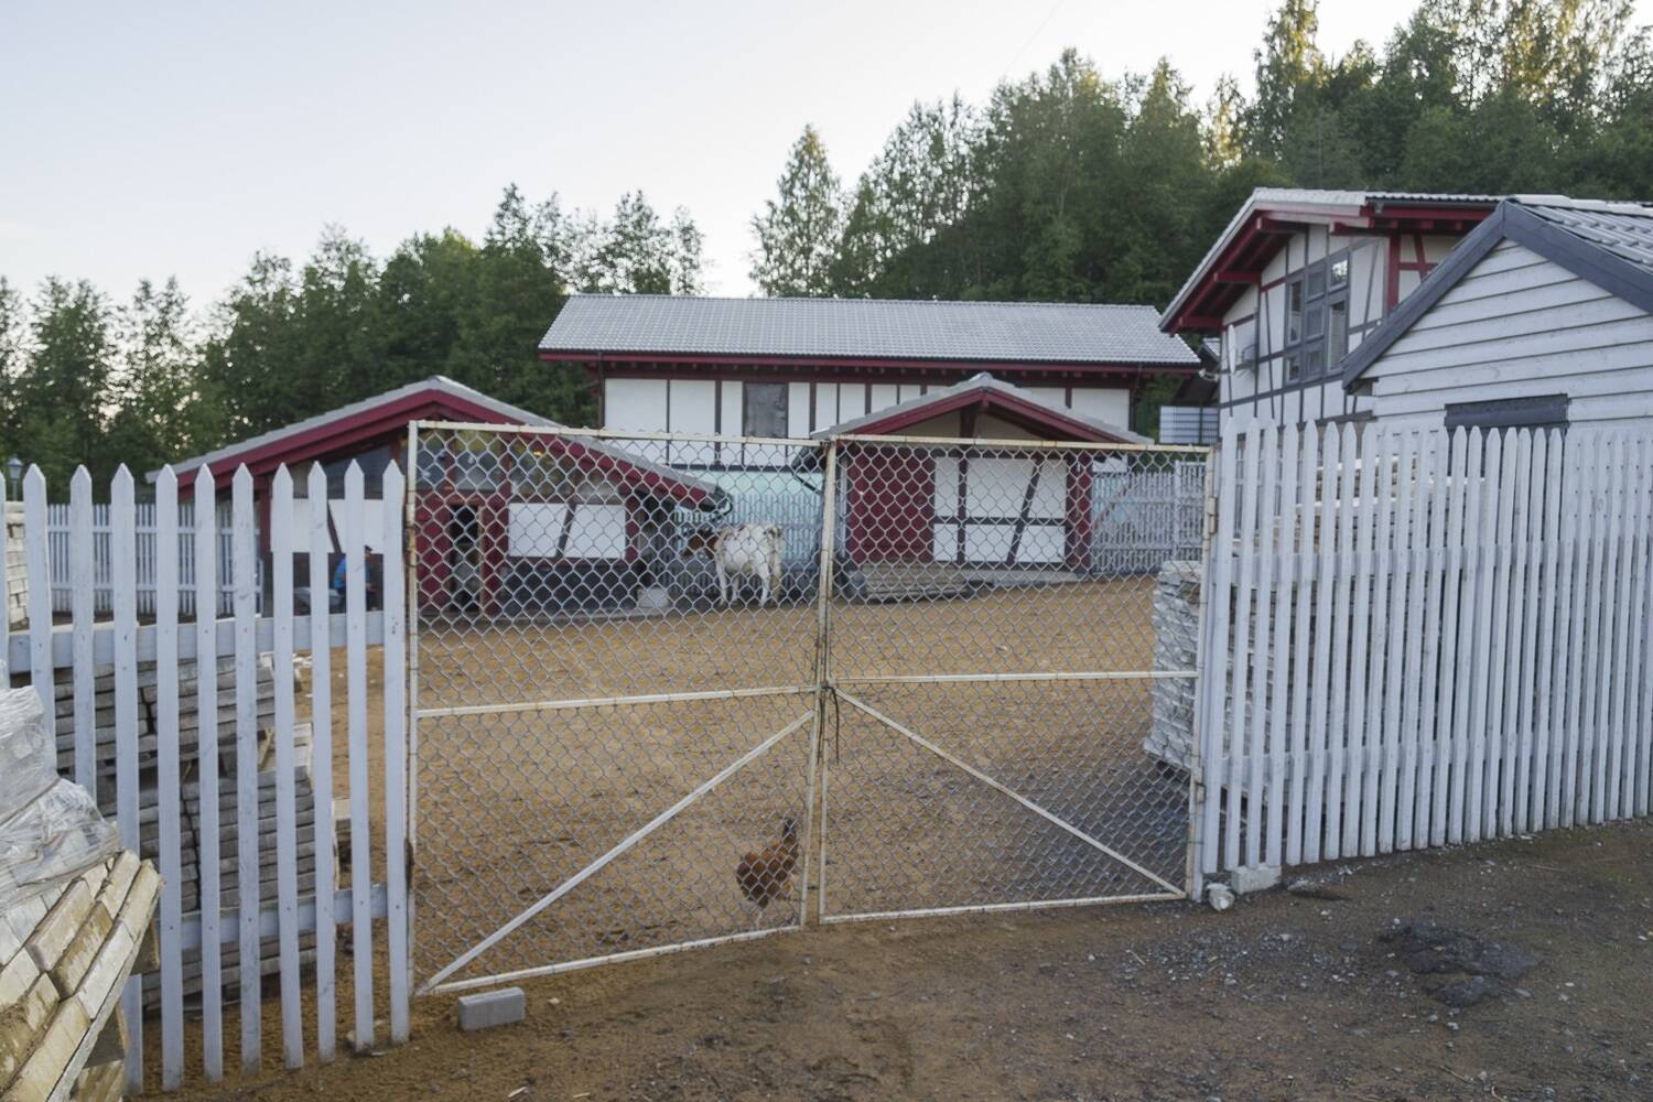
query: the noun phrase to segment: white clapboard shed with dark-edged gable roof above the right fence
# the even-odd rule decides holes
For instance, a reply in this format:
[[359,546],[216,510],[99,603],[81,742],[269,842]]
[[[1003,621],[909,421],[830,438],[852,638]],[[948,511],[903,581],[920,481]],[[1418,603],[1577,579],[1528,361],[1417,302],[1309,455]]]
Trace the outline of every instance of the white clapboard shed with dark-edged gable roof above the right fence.
[[1512,198],[1351,354],[1384,423],[1646,425],[1653,207]]

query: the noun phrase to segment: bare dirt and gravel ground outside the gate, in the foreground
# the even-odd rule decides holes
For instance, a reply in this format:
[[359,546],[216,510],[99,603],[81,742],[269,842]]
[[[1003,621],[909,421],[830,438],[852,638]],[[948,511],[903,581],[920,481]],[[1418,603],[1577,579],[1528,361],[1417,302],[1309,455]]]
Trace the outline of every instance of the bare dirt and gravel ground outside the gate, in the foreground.
[[[532,980],[527,1021],[479,1034],[418,1000],[405,1047],[180,1097],[1653,1097],[1653,824],[1311,874],[1227,914],[851,924]],[[1413,970],[1450,957],[1408,957],[1420,924],[1512,978],[1446,1005],[1473,985]]]

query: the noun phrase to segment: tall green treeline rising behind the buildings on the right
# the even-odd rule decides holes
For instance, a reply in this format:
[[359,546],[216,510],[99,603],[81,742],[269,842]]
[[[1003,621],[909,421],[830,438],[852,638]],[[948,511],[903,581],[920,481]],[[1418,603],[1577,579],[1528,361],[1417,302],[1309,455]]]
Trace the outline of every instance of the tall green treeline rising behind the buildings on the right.
[[1653,55],[1628,0],[1423,0],[1331,56],[1312,0],[1195,104],[1076,53],[987,104],[916,104],[851,187],[805,127],[752,220],[769,294],[1165,301],[1261,185],[1653,198]]

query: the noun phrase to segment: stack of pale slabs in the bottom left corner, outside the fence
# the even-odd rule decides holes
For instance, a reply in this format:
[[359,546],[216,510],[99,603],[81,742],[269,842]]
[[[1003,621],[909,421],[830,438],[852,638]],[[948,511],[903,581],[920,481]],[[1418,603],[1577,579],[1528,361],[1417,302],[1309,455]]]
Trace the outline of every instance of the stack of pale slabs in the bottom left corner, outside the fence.
[[0,1097],[119,1099],[121,990],[152,957],[160,876],[127,851],[0,914]]

